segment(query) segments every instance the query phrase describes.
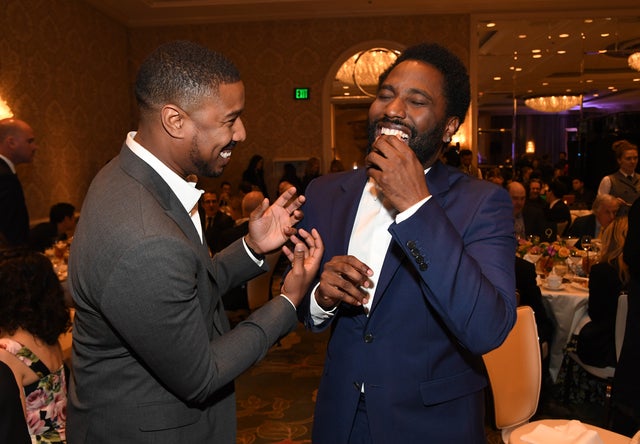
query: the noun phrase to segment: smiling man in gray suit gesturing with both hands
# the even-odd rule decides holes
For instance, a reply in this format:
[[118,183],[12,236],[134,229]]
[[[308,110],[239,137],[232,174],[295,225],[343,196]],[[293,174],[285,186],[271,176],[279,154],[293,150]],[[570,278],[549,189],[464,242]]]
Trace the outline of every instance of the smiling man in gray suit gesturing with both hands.
[[[288,203],[292,188],[209,257],[189,180],[219,176],[246,136],[244,86],[224,56],[165,44],[143,62],[136,98],[138,131],[93,180],[72,245],[68,442],[235,443],[233,379],[295,328],[322,241],[294,238],[304,199]],[[289,238],[286,296],[230,331],[221,295],[264,272],[263,254]]]

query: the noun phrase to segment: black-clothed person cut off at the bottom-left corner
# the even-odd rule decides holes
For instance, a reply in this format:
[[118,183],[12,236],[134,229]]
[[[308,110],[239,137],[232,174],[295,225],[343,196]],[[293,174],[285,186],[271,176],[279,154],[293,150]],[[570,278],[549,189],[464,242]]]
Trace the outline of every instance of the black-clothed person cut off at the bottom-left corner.
[[0,442],[31,444],[20,390],[11,368],[0,361]]

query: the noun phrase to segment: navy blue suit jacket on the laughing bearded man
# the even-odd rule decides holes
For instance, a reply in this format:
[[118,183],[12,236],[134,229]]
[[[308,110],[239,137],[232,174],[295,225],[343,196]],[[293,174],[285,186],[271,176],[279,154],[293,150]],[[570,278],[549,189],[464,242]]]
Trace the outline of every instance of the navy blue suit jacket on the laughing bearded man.
[[[364,170],[350,171],[307,188],[302,225],[324,239],[322,266],[347,254],[366,180]],[[484,442],[481,355],[515,322],[511,200],[441,163],[426,181],[431,199],[389,228],[369,316],[342,304],[332,319],[316,444],[347,442],[362,384],[376,443]],[[319,329],[309,303],[300,307],[305,324]]]

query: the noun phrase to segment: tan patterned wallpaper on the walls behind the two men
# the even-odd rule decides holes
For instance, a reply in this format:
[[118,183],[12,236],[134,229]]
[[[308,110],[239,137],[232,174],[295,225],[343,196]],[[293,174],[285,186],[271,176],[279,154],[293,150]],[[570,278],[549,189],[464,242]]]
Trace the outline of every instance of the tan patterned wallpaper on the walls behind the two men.
[[[469,59],[466,15],[126,29],[79,0],[2,1],[0,97],[33,126],[40,145],[34,162],[18,167],[32,219],[47,217],[58,201],[80,207],[93,176],[135,128],[131,84],[142,59],[162,42],[200,42],[230,57],[243,76],[247,140],[221,178],[200,183],[213,189],[222,180],[235,188],[255,153],[266,160],[270,190],[280,176],[275,159],[325,160],[324,80],[350,48],[381,39],[403,46],[433,40]],[[311,89],[311,100],[293,100],[299,86]]]

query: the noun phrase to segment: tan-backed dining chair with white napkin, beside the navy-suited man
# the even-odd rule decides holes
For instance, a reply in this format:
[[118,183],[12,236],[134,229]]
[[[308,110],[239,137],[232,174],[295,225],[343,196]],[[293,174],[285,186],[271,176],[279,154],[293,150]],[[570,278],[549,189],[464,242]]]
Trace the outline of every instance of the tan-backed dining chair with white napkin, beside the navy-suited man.
[[[495,425],[505,444],[525,444],[522,435],[538,425],[557,427],[569,419],[543,419],[529,422],[537,410],[542,368],[538,328],[531,307],[517,308],[516,323],[498,348],[483,356],[493,395]],[[605,444],[628,444],[626,436],[590,424]],[[554,444],[546,442],[545,444]]]

